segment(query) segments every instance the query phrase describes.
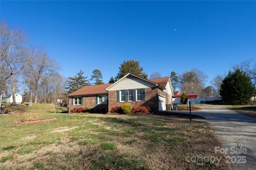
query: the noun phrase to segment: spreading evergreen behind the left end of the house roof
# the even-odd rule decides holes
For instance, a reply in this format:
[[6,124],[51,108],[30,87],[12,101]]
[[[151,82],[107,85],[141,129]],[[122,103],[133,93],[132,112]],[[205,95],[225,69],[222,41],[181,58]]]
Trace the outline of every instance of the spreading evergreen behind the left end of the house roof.
[[67,85],[65,87],[68,94],[89,85],[87,83],[87,77],[84,77],[83,74],[84,72],[80,70],[74,77],[68,77]]

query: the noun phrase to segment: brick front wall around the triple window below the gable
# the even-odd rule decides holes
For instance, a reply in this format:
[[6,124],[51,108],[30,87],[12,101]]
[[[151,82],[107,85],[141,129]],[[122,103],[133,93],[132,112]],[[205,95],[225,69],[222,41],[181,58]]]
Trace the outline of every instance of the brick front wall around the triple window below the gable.
[[122,106],[124,103],[130,103],[132,106],[148,106],[152,112],[158,111],[158,90],[157,88],[146,88],[145,89],[145,101],[128,101],[128,102],[117,102],[116,91],[108,92],[108,112],[111,107]]

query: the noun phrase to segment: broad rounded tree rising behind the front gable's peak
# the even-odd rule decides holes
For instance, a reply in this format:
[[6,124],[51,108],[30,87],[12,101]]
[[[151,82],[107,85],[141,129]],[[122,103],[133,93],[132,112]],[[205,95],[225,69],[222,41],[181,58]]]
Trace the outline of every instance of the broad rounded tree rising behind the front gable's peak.
[[117,80],[124,77],[124,75],[126,75],[127,73],[137,75],[138,77],[144,79],[148,78],[148,75],[143,72],[143,67],[140,66],[139,61],[128,60],[121,63],[121,66],[119,67],[119,72],[116,76]]

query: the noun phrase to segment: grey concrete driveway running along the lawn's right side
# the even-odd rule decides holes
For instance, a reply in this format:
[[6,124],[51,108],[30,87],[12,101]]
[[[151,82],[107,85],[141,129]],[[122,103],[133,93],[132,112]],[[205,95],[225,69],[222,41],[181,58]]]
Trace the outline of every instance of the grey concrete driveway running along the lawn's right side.
[[[201,121],[212,125],[221,141],[221,147],[228,149],[227,156],[230,156],[234,169],[256,169],[256,118],[219,106],[203,107],[196,114],[206,118]],[[246,154],[233,154],[230,152],[230,147],[239,150],[246,148],[247,152]],[[247,162],[237,163],[243,162],[242,156],[246,156]]]

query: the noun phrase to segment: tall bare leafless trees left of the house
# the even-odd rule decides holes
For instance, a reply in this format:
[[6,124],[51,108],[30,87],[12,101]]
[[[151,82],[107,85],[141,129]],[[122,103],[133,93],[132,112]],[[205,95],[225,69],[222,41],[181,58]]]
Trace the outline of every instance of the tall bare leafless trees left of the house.
[[[58,63],[46,50],[28,44],[28,36],[21,29],[10,28],[7,22],[0,25],[0,90],[7,96],[23,94],[32,103],[53,103],[63,94],[65,78]],[[13,96],[13,104],[16,103]]]

